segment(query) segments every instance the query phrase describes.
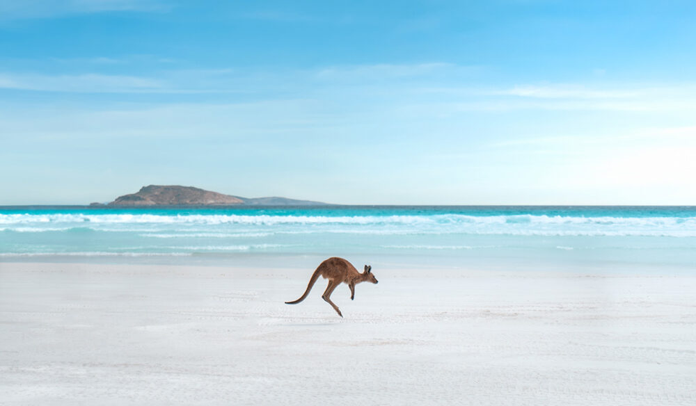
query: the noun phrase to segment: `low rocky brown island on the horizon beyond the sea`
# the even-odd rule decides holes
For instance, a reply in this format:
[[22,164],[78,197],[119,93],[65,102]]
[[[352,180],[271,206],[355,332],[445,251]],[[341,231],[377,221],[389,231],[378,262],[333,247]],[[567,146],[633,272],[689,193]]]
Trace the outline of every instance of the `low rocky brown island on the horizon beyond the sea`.
[[[192,186],[143,186],[137,193],[116,197],[107,206],[320,206],[322,202],[286,197],[239,197],[223,195]],[[103,206],[92,203],[90,206]]]

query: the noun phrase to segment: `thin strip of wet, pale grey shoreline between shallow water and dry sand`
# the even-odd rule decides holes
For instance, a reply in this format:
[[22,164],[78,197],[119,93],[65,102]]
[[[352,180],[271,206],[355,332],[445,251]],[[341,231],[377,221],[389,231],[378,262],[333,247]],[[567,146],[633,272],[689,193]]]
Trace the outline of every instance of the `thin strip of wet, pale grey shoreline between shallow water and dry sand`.
[[[438,257],[433,254],[373,254],[373,253],[340,253],[337,255],[322,253],[221,253],[221,254],[118,254],[92,252],[79,254],[0,254],[0,270],[3,266],[13,264],[63,264],[63,265],[92,265],[92,266],[177,266],[201,268],[240,269],[303,269],[312,272],[324,259],[338,256],[343,257],[361,269],[363,263],[370,264],[375,270],[418,270],[452,271],[455,273],[480,272],[491,275],[523,275],[548,274],[570,276],[590,275],[598,277],[657,275],[657,276],[690,276],[693,266],[670,263],[644,263],[626,261],[585,261],[583,263],[565,263],[562,260],[537,259],[530,261],[519,258],[476,258],[466,259],[457,257]],[[359,263],[358,263],[359,262]]]

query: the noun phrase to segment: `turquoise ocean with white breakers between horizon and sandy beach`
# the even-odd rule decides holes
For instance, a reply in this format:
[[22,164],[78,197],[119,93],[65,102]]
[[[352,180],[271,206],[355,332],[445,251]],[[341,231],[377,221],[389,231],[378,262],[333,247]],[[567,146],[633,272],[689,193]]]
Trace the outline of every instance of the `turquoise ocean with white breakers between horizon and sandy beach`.
[[0,206],[0,263],[696,269],[696,206]]

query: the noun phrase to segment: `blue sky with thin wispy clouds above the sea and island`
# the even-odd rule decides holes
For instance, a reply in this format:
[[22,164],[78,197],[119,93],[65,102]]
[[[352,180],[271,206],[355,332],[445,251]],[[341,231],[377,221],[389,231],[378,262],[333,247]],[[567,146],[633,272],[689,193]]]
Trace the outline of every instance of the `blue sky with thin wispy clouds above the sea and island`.
[[0,0],[0,204],[696,204],[690,1]]

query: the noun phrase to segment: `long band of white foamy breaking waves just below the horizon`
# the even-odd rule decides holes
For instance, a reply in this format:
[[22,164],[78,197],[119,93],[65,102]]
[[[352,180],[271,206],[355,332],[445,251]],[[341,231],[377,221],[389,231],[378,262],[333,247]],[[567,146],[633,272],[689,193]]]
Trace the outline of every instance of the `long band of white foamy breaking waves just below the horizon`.
[[[612,217],[464,214],[283,216],[193,214],[0,214],[9,232],[140,232],[148,238],[252,238],[273,234],[696,237],[696,217]],[[239,232],[237,229],[244,227]],[[237,229],[235,229],[237,228]]]

